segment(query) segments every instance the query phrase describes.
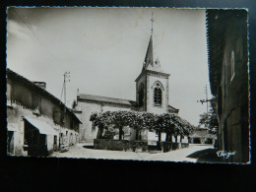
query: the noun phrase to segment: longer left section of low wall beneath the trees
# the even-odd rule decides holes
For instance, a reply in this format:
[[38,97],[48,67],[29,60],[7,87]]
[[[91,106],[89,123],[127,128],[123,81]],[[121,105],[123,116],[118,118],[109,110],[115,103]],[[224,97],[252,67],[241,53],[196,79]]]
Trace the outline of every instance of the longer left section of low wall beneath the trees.
[[97,150],[148,152],[148,142],[147,141],[95,139],[94,147]]

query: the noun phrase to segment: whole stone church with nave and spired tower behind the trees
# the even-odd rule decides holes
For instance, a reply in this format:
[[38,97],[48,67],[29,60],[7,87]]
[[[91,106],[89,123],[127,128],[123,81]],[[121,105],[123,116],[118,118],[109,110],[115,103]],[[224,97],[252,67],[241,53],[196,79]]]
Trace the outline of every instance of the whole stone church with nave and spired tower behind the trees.
[[[153,24],[153,19],[151,20]],[[156,114],[172,113],[178,114],[179,109],[169,105],[169,76],[161,70],[160,59],[156,56],[153,48],[153,25],[142,71],[135,79],[136,100],[114,98],[106,96],[93,96],[78,94],[77,105],[74,112],[83,124],[80,125],[80,142],[93,142],[96,139],[97,127],[90,121],[94,112],[135,110],[146,111]],[[131,135],[129,130],[125,135]],[[156,133],[142,135],[142,140],[157,141]]]

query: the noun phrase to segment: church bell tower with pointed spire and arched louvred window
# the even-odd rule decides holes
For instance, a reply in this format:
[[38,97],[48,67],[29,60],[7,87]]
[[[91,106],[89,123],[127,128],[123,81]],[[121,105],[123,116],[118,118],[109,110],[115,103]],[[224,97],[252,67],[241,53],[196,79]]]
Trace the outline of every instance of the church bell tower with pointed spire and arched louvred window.
[[136,101],[139,111],[166,113],[168,110],[169,74],[162,72],[160,60],[155,56],[153,46],[153,14],[151,22],[151,37],[143,62],[142,72],[135,80]]

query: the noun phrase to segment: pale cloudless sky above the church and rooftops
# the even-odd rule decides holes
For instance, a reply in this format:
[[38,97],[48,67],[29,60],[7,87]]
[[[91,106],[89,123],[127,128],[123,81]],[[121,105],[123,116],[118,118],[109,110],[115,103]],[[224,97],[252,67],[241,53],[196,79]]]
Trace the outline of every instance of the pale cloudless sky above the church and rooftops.
[[[211,98],[204,9],[171,8],[9,8],[7,67],[61,98],[63,75],[67,105],[77,94],[136,99],[151,36],[155,55],[169,73],[169,104],[198,125]],[[79,90],[79,91],[78,91]],[[62,96],[63,100],[63,96]]]

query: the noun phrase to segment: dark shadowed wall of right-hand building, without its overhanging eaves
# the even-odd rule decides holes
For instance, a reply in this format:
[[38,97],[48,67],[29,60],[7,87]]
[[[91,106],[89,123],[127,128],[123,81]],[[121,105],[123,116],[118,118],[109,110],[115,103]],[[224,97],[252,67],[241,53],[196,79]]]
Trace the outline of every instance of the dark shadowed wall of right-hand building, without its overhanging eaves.
[[[229,23],[229,18],[228,18]],[[223,77],[219,112],[220,150],[236,152],[228,160],[249,160],[248,58],[246,15],[233,16],[224,36]],[[234,65],[232,73],[231,65]]]

